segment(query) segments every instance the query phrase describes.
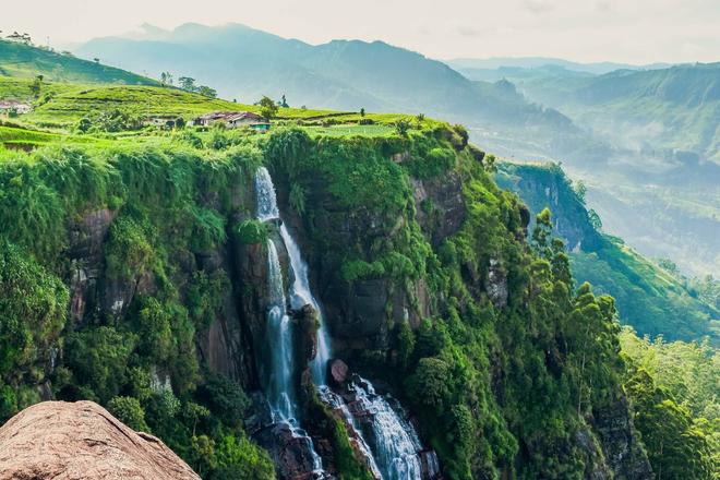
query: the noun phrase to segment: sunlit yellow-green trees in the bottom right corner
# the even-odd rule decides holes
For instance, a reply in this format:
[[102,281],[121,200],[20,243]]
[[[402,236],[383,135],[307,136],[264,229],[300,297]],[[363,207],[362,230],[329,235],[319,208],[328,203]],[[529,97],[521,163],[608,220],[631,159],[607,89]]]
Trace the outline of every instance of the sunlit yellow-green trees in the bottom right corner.
[[625,388],[658,478],[717,478],[720,356],[707,341],[650,341],[623,329]]

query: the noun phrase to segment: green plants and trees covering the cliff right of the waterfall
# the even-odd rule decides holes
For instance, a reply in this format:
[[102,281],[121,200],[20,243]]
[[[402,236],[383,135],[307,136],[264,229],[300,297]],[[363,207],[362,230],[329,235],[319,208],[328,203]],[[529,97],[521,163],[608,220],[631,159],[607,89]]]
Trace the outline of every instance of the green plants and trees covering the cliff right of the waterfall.
[[[339,281],[384,278],[415,305],[413,315],[421,315],[413,285],[429,285],[424,301],[436,314],[415,333],[397,325],[394,368],[382,350],[355,361],[396,385],[447,477],[583,476],[597,466],[590,453],[572,447],[572,432],[589,429],[585,416],[622,396],[614,302],[587,285],[573,291],[569,261],[562,242],[550,240],[548,215],[535,251],[517,241],[517,199],[493,183],[456,134],[445,127],[408,139],[312,142],[289,130],[269,136],[265,155],[278,189],[300,184],[317,199],[303,225]],[[433,249],[416,218],[410,177],[432,179],[451,169],[463,178],[468,217]],[[338,218],[324,205],[349,214]],[[336,233],[346,215],[361,212],[372,216],[372,236],[348,242]],[[507,305],[479,286],[491,260],[507,279]]]

